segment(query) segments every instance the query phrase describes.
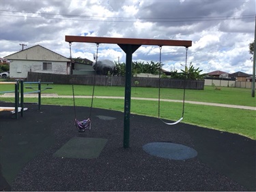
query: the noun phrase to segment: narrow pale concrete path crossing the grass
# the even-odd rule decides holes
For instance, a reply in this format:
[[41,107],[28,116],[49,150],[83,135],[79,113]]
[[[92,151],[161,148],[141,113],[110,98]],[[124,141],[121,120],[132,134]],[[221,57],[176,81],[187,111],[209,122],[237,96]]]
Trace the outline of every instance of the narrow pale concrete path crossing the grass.
[[[0,95],[0,97],[14,97],[13,93],[5,93],[4,95]],[[27,98],[34,98],[38,97],[37,94],[27,94],[24,95]],[[57,95],[57,94],[42,94],[42,98],[72,98],[72,95]],[[76,95],[76,98],[91,98],[91,96],[84,96],[84,95]],[[108,97],[108,96],[95,96],[94,98],[98,99],[124,99],[124,97]],[[131,97],[134,100],[147,100],[147,101],[158,101],[156,98],[142,98],[142,97]],[[167,102],[183,102],[182,100],[175,100],[175,99],[160,99],[160,101],[167,101]],[[204,106],[217,106],[223,108],[237,108],[237,109],[244,109],[244,110],[256,110],[256,107],[251,106],[237,106],[237,105],[228,105],[222,103],[208,103],[208,102],[200,102],[200,101],[185,101],[185,103],[190,104],[197,104],[197,105],[204,105]]]

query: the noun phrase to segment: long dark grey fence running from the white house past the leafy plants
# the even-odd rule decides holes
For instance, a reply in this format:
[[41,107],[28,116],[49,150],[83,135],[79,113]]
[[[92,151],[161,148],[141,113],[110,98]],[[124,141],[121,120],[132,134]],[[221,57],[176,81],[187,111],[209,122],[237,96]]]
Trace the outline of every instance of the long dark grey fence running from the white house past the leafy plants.
[[[28,81],[41,80],[42,82],[53,82],[54,84],[94,84],[92,75],[61,75],[61,74],[42,74],[29,72]],[[125,78],[121,76],[95,76],[95,84],[101,86],[124,86]],[[136,82],[139,84],[136,84]],[[139,78],[132,77],[132,86],[158,87],[158,78]],[[161,78],[160,87],[162,88],[184,88],[184,80]],[[186,89],[204,89],[204,80],[186,80]]]

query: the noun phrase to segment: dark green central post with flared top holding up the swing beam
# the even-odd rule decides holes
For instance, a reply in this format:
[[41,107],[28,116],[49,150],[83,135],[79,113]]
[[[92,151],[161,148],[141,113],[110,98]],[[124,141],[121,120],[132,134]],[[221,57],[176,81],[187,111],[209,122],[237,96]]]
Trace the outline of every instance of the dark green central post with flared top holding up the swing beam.
[[137,50],[140,45],[118,44],[124,52],[126,52],[126,84],[124,95],[124,148],[129,147],[130,143],[130,95],[131,95],[131,79],[132,79],[132,53]]

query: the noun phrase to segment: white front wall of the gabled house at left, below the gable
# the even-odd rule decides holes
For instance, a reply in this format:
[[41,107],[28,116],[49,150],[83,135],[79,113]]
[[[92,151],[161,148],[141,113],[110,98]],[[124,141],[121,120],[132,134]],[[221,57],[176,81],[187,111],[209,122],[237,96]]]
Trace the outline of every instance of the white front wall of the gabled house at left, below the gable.
[[[43,70],[43,63],[52,63],[51,70]],[[67,62],[58,61],[20,61],[12,60],[10,63],[10,78],[27,78],[27,73],[46,73],[46,74],[68,74]]]

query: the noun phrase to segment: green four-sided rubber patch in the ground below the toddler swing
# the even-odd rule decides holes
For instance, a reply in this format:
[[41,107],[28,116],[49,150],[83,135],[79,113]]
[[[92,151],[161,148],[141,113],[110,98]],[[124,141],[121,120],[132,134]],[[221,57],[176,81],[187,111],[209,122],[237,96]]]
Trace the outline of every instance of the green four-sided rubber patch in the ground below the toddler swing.
[[106,142],[103,138],[74,137],[57,150],[53,157],[95,159],[100,155]]

